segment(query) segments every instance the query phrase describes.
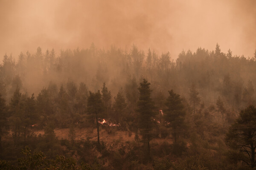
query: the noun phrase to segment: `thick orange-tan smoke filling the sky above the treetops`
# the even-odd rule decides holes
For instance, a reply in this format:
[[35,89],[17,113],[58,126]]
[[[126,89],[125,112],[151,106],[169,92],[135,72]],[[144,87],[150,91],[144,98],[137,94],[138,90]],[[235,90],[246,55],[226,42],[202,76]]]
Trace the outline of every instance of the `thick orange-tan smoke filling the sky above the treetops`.
[[172,59],[184,50],[230,48],[253,57],[254,0],[0,0],[0,59],[5,53],[131,45]]

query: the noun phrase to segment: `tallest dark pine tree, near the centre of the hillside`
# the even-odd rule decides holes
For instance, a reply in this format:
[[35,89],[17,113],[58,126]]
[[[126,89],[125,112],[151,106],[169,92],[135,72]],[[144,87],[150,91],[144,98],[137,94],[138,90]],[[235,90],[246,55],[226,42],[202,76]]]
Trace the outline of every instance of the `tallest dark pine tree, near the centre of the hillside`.
[[154,127],[154,122],[152,120],[157,112],[154,111],[155,106],[151,99],[152,90],[150,89],[150,83],[146,79],[143,79],[143,82],[140,83],[140,88],[138,88],[138,90],[140,91],[140,97],[137,102],[139,128],[141,131],[146,133],[143,134],[143,139],[148,143],[148,156],[150,158],[149,142],[151,140],[151,135],[149,132]]

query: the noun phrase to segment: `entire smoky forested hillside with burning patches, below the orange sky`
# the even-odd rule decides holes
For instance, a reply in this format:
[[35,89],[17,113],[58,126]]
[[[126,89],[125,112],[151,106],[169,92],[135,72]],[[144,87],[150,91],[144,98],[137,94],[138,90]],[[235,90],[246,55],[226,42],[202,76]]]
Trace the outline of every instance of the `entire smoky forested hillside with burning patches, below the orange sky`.
[[136,45],[5,54],[0,168],[250,169],[255,85],[256,51],[218,43],[175,60]]

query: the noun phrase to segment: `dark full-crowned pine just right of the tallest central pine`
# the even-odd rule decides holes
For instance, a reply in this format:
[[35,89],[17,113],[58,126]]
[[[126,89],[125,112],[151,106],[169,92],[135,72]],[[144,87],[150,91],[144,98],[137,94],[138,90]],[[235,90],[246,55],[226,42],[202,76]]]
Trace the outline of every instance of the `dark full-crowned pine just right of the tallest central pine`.
[[[175,94],[173,90],[169,91],[169,96],[166,99],[166,111],[163,111],[164,118],[170,123],[173,130],[184,127],[185,111],[181,102],[180,95]],[[177,133],[173,133],[175,143],[177,142]]]

